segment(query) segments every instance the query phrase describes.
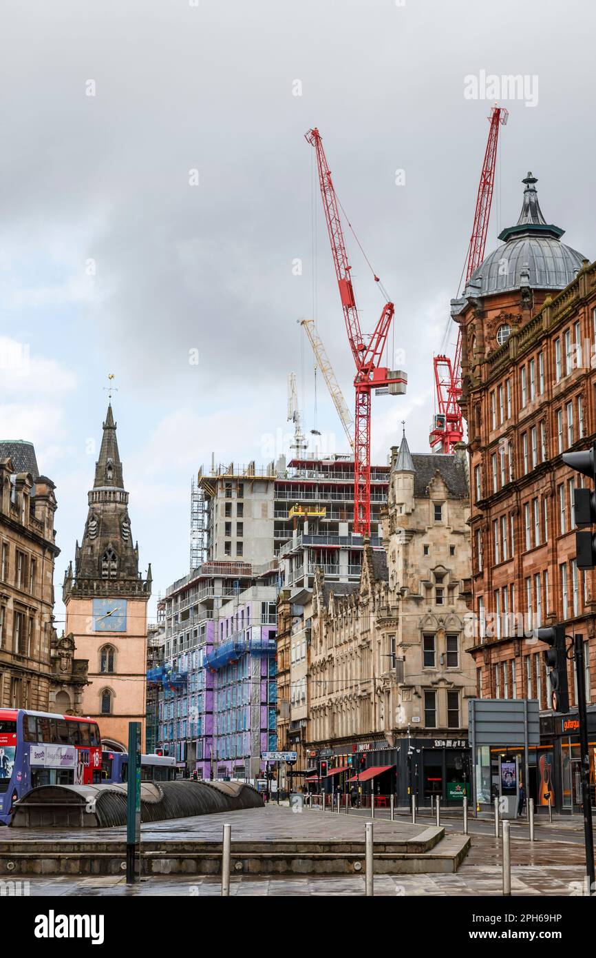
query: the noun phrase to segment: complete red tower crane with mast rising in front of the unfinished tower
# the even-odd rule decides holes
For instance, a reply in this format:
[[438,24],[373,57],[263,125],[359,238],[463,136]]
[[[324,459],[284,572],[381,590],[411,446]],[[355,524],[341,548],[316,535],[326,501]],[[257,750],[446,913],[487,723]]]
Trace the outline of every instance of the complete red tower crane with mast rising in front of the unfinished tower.
[[[406,392],[408,376],[401,370],[389,370],[381,366],[386,338],[393,318],[393,304],[386,303],[379,322],[370,336],[364,336],[356,308],[354,288],[350,276],[351,266],[347,258],[342,232],[338,198],[335,194],[331,171],[327,165],[324,149],[317,128],[306,133],[306,141],[315,148],[319,170],[320,195],[331,243],[335,273],[340,287],[343,319],[350,344],[356,376],[356,415],[354,427],[354,522],[352,529],[364,536],[370,535],[370,411],[372,390],[382,390],[392,396]],[[375,276],[375,282],[379,278]]]

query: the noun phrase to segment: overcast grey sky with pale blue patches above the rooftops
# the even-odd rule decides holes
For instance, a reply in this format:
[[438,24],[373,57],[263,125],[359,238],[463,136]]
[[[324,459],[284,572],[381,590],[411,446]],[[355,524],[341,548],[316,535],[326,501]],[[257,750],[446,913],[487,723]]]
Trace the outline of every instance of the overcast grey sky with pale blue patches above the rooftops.
[[[492,104],[481,71],[523,75],[528,94],[499,101],[510,117],[487,252],[531,170],[546,220],[591,261],[595,20],[579,0],[4,0],[0,438],[32,440],[55,481],[58,586],[83,532],[108,373],[156,594],[188,571],[190,480],[211,452],[258,464],[283,451],[288,373],[305,428],[345,448],[320,377],[315,408],[297,323],[315,315],[352,406],[311,126],[395,302],[408,372],[406,397],[373,401],[373,462],[402,419],[412,451],[428,451],[432,354]],[[371,331],[383,300],[347,240]],[[59,587],[56,599],[61,627]]]

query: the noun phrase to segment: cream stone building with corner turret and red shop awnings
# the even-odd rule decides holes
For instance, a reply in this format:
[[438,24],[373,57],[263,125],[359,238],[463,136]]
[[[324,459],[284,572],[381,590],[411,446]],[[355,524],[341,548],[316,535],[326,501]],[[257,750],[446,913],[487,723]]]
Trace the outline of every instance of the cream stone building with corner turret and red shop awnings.
[[385,553],[364,550],[359,585],[317,576],[307,748],[328,763],[327,790],[461,801],[475,696],[468,517],[463,451],[412,456],[404,436],[392,449]]

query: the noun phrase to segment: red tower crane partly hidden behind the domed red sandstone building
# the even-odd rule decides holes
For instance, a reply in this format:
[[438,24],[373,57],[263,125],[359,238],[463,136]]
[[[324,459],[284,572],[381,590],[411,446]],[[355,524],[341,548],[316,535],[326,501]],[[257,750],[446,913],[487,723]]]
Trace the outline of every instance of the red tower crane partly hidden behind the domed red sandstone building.
[[[480,183],[476,196],[474,228],[468,247],[466,283],[484,259],[486,234],[491,216],[493,188],[495,186],[495,165],[497,163],[498,126],[507,123],[509,113],[502,106],[493,106],[490,120],[489,137],[484,153],[484,163],[480,173]],[[436,390],[437,414],[430,430],[430,447],[440,445],[441,452],[453,452],[454,445],[460,443],[464,434],[459,398],[461,396],[461,328],[457,328],[457,341],[453,362],[450,356],[434,356],[434,386]]]

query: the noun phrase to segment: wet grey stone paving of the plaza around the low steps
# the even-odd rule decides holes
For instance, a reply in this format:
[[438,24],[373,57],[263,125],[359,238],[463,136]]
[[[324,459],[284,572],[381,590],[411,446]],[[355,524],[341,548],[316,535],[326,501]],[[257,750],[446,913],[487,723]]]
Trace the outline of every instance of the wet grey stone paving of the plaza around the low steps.
[[[316,811],[294,814],[288,808],[234,811],[227,815],[203,815],[176,822],[158,822],[143,826],[143,840],[180,841],[188,839],[221,840],[224,821],[232,823],[232,841],[345,840],[364,836],[363,818]],[[411,838],[429,826],[429,821],[412,826],[404,821],[391,823],[375,819],[377,841],[387,838]],[[5,840],[50,841],[95,838],[122,841],[124,830],[25,830],[6,829]],[[472,847],[455,874],[379,875],[375,895],[419,897],[499,896],[501,894],[500,840],[494,835],[473,834]],[[571,896],[579,894],[584,876],[583,847],[571,842],[530,842],[513,838],[512,894],[514,896]],[[127,886],[118,876],[32,877],[27,883],[32,896],[219,896],[217,877],[143,878]],[[231,896],[364,896],[364,876],[261,878],[232,874]]]

